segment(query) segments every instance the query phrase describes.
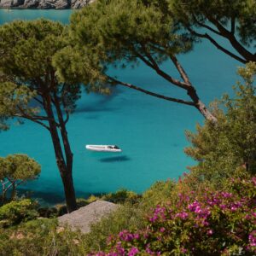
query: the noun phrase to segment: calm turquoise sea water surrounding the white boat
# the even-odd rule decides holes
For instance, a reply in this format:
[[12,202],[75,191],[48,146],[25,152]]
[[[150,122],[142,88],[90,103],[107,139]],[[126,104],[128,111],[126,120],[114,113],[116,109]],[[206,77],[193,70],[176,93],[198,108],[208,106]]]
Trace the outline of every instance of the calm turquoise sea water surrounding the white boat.
[[[44,17],[67,23],[71,10],[0,9],[0,24],[15,19]],[[226,44],[226,42],[223,42]],[[201,99],[211,102],[231,92],[239,63],[220,53],[208,42],[195,46],[188,55],[178,56]],[[175,72],[166,62],[166,71]],[[120,79],[143,88],[186,98],[148,67],[114,70]],[[78,196],[105,193],[120,188],[142,192],[157,180],[177,178],[193,160],[183,154],[188,145],[184,131],[202,122],[196,109],[166,102],[140,92],[117,87],[111,96],[83,94],[68,124],[74,153],[73,177]],[[86,151],[85,144],[117,144],[121,154]],[[47,131],[26,122],[0,133],[0,155],[25,153],[42,165],[39,179],[23,189],[47,203],[63,200],[62,185],[55,166],[53,147]]]

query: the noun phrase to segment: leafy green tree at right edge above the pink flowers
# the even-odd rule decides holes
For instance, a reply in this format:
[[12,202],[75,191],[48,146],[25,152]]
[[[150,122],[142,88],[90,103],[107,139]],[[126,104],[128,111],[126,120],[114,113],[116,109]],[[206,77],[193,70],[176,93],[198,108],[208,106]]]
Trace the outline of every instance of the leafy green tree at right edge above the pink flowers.
[[236,97],[224,96],[225,111],[215,107],[218,123],[197,125],[196,133],[187,131],[192,147],[185,148],[185,153],[199,162],[190,169],[195,176],[217,185],[225,177],[240,176],[243,168],[256,172],[255,63],[248,63],[239,73],[244,84],[237,84]]

